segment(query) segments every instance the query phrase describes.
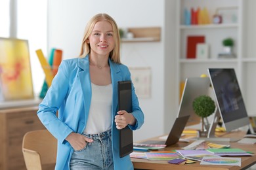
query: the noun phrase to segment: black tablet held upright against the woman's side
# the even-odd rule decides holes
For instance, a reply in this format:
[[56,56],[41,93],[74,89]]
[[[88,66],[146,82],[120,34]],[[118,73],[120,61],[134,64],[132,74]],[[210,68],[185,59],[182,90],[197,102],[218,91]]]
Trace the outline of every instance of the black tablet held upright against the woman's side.
[[[132,112],[131,81],[118,82],[119,110]],[[133,152],[133,131],[126,126],[119,130],[119,156],[127,156]]]

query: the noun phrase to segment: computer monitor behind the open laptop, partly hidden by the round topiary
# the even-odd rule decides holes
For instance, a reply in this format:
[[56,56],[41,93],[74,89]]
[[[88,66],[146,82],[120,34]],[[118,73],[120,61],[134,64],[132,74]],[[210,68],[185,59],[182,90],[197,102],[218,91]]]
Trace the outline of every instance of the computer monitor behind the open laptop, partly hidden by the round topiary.
[[190,115],[186,126],[201,123],[202,118],[194,112],[192,105],[196,97],[199,97],[200,95],[209,95],[210,84],[209,77],[186,78],[178,112],[178,117]]

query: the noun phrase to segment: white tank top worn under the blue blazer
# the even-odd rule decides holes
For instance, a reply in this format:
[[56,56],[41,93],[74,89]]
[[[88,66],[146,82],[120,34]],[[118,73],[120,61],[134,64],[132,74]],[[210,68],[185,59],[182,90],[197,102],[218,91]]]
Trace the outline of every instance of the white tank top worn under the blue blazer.
[[91,83],[92,96],[87,126],[84,133],[97,134],[112,126],[112,84],[98,86]]

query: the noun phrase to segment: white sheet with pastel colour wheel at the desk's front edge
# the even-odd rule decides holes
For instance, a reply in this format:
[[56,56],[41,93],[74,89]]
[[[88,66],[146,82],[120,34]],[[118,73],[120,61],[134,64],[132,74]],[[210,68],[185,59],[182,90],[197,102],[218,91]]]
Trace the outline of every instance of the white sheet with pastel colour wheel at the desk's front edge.
[[203,157],[200,165],[233,165],[241,167],[241,158]]

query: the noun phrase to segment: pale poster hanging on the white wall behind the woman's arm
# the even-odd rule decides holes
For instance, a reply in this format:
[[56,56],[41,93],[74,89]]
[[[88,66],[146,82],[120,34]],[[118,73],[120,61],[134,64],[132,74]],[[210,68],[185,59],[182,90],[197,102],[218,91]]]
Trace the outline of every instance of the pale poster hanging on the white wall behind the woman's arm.
[[135,92],[141,99],[151,97],[151,68],[150,67],[129,67],[131,79],[135,86]]

